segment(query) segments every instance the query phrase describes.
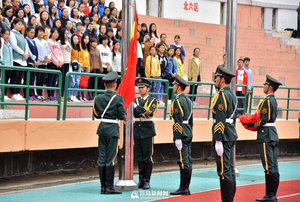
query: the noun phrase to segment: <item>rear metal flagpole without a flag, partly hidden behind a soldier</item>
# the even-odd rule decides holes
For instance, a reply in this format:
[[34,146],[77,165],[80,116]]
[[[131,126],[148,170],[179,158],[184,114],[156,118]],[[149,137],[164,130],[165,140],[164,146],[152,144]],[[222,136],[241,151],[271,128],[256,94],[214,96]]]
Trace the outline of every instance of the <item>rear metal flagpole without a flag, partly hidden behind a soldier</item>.
[[[226,19],[226,68],[235,72],[236,70],[236,48],[237,48],[237,0],[227,0],[227,19]],[[235,73],[234,73],[235,74]],[[235,77],[232,78],[230,88],[235,93]],[[235,146],[234,146],[234,170],[235,168]]]

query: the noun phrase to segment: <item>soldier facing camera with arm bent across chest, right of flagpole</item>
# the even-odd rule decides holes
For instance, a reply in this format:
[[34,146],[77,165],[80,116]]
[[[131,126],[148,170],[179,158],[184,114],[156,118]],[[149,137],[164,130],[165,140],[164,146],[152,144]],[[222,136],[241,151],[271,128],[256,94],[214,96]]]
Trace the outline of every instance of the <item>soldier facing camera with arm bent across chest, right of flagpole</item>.
[[153,142],[155,133],[152,118],[156,116],[157,100],[148,95],[151,82],[139,78],[138,92],[141,97],[134,99],[134,150],[138,161],[138,189],[150,189],[150,177],[153,169]]

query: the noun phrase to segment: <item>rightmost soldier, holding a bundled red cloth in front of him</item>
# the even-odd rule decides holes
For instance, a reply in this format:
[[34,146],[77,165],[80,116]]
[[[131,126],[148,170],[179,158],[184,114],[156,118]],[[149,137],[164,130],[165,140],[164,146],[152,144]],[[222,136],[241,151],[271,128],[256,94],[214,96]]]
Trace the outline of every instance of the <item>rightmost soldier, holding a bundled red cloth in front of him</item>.
[[262,166],[265,169],[266,195],[256,201],[277,201],[276,192],[279,185],[279,170],[277,163],[278,135],[275,128],[275,120],[278,113],[278,105],[275,100],[275,91],[282,85],[279,81],[267,75],[263,83],[264,99],[257,106],[257,114],[260,118],[248,127],[257,127],[257,139]]

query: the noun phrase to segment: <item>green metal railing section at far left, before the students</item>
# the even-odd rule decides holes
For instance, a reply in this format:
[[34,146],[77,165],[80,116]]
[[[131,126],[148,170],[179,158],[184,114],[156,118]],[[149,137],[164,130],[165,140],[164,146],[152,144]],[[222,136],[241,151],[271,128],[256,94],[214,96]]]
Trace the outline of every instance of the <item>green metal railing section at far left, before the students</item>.
[[[0,60],[0,70],[1,70],[1,110],[4,109],[5,105],[24,105],[25,106],[25,120],[28,120],[28,107],[31,106],[57,106],[57,116],[56,119],[60,120],[60,109],[61,109],[61,89],[62,89],[62,72],[58,70],[47,70],[47,69],[38,69],[38,68],[31,68],[31,67],[15,67],[15,66],[5,66],[4,62]],[[26,85],[14,85],[14,84],[5,84],[5,69],[9,70],[20,70],[20,71],[26,71]],[[58,74],[58,87],[47,87],[47,86],[30,86],[29,80],[30,80],[30,72],[31,71],[37,71],[37,72],[45,72],[45,73],[54,73]],[[8,102],[4,101],[4,88],[5,87],[13,87],[13,88],[26,88],[26,95],[25,96],[25,102]],[[58,103],[35,103],[35,102],[29,102],[29,88],[36,88],[36,89],[46,89],[46,90],[57,90],[58,91]]]

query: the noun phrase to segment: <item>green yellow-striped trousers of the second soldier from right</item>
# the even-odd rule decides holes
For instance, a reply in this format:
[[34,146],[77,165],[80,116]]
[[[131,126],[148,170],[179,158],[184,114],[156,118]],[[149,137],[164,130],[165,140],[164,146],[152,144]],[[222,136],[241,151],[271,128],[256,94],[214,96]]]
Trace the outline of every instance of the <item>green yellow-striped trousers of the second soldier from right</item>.
[[[235,179],[235,171],[233,165],[234,159],[234,145],[236,141],[224,141],[223,144],[223,155],[218,156],[215,151],[215,159],[217,163],[217,173],[222,180]],[[214,145],[213,145],[214,146]]]

